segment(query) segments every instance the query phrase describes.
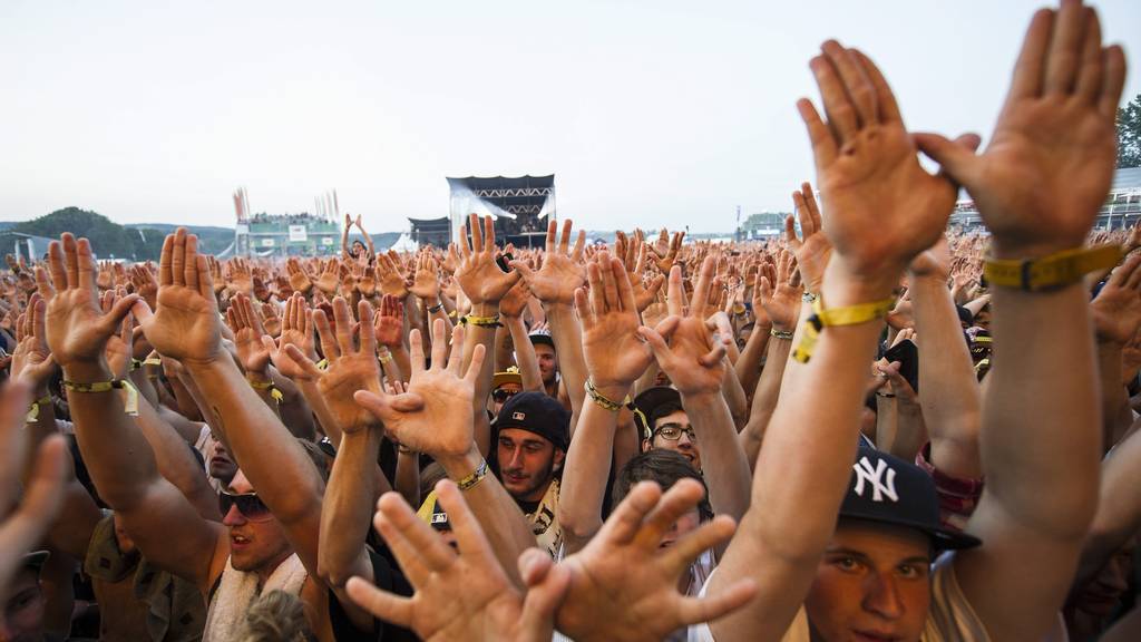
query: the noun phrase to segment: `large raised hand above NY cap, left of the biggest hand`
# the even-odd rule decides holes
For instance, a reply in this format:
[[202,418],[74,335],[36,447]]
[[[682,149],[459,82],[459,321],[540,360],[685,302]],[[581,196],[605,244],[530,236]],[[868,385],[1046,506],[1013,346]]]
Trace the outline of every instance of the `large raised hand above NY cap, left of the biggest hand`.
[[[938,240],[956,187],[920,166],[891,88],[872,61],[831,40],[823,49],[811,67],[828,121],[807,99],[798,109],[828,206],[824,233],[843,273],[855,275],[866,290],[856,297],[879,297],[912,257]],[[978,144],[977,138],[966,143]]]

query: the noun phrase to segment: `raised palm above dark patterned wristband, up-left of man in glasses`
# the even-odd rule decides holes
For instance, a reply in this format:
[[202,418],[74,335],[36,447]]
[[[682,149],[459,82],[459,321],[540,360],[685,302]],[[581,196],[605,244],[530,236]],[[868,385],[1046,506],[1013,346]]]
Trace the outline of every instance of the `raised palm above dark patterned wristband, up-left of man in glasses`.
[[582,352],[594,387],[607,399],[622,399],[654,360],[638,336],[638,310],[625,267],[601,251],[586,264],[590,292],[575,291],[582,323]]

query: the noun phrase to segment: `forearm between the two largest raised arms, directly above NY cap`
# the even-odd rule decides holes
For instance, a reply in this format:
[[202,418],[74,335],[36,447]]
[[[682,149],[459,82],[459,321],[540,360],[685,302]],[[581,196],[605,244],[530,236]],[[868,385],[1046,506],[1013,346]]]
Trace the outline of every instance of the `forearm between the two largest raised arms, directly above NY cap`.
[[920,359],[922,418],[930,431],[931,463],[961,479],[982,475],[979,426],[982,395],[971,353],[955,314],[955,304],[941,276],[912,276],[915,331],[923,337]]

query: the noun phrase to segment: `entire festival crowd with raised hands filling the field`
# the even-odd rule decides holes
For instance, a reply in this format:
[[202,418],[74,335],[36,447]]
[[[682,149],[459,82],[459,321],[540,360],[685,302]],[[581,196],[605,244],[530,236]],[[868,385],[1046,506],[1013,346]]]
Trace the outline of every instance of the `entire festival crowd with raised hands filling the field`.
[[810,67],[769,242],[9,258],[0,640],[1141,637],[1120,48],[1035,14],[982,152]]

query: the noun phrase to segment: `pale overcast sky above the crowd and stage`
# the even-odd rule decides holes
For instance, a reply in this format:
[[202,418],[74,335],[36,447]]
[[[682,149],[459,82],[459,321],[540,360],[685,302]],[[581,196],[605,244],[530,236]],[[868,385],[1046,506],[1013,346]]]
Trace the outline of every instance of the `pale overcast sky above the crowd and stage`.
[[[447,214],[445,176],[553,172],[585,227],[728,231],[814,178],[794,102],[824,39],[912,129],[986,137],[1039,5],[2,0],[0,219],[232,225],[244,185],[273,214],[335,188],[397,231]],[[1097,6],[1135,57],[1141,2]]]

